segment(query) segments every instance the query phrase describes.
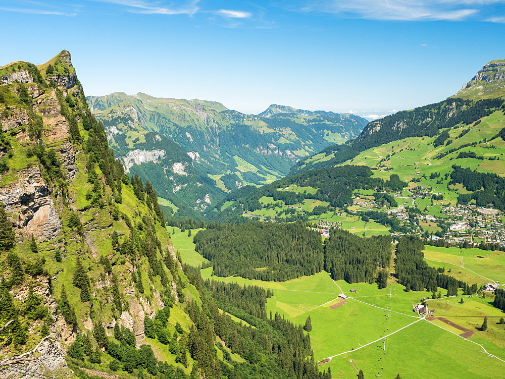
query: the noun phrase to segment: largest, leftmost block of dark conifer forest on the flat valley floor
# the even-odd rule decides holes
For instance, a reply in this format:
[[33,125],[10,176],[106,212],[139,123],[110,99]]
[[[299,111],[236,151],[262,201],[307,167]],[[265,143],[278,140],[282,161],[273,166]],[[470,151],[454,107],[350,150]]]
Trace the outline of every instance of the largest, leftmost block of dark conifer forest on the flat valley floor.
[[193,241],[217,276],[285,281],[323,269],[321,236],[301,222],[211,224]]

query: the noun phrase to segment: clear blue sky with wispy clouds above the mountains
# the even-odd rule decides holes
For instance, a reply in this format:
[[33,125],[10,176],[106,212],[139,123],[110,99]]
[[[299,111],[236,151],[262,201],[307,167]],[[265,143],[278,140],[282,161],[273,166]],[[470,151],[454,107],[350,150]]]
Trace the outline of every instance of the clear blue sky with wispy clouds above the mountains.
[[505,0],[3,0],[0,65],[72,54],[87,95],[123,91],[383,115],[505,58]]

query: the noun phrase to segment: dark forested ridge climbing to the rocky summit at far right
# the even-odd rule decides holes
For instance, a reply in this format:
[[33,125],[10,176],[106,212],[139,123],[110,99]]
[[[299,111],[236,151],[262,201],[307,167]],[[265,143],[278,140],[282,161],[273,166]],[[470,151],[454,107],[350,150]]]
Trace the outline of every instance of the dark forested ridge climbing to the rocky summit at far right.
[[471,125],[491,115],[503,103],[504,65],[505,60],[484,65],[461,91],[446,100],[370,122],[355,140],[329,146],[321,153],[299,161],[292,172],[343,163],[372,147],[408,137],[433,137],[442,129],[458,124]]

